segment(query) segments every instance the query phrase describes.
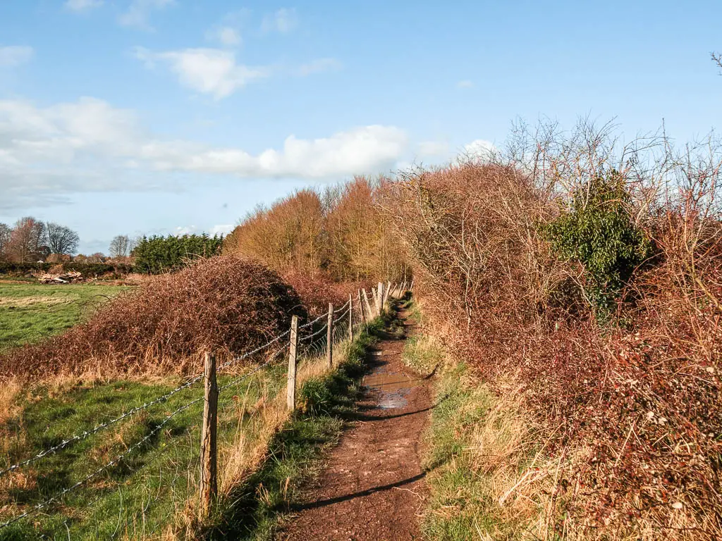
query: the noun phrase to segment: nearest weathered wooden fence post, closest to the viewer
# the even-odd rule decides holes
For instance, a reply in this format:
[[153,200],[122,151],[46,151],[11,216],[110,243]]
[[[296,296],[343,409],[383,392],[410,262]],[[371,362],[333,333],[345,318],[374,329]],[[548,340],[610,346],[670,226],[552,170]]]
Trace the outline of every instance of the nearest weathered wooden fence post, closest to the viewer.
[[203,428],[201,431],[201,519],[208,516],[218,496],[218,383],[216,381],[216,356],[206,353],[204,368],[206,390],[203,405]]

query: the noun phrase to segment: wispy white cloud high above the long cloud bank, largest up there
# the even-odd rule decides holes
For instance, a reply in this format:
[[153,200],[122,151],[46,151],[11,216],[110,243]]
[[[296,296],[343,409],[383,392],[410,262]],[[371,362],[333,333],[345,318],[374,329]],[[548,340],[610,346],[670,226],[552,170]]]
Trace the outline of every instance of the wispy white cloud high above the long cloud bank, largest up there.
[[136,57],[144,61],[146,66],[155,66],[156,62],[164,63],[178,76],[181,84],[197,92],[212,94],[217,100],[270,74],[268,68],[237,64],[235,53],[230,50],[199,48],[152,53],[144,48],[136,48],[135,52]]

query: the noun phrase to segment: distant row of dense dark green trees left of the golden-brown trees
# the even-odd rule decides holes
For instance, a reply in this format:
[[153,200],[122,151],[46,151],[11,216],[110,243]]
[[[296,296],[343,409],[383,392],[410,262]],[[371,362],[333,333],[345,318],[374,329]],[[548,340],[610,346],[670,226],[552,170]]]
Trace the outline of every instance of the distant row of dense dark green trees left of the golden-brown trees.
[[209,258],[221,252],[223,236],[208,234],[175,237],[143,237],[134,248],[135,270],[160,274],[183,267],[188,260]]

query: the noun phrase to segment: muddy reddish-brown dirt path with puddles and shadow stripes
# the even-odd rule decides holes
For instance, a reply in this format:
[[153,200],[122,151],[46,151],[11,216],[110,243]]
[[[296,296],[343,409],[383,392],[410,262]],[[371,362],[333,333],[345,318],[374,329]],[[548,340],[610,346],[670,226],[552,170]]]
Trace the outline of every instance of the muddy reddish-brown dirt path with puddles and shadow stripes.
[[[404,319],[406,335],[412,324]],[[419,444],[431,405],[430,382],[404,367],[404,338],[388,335],[368,361],[359,421],[331,453],[307,503],[279,535],[297,541],[419,540],[425,491]]]

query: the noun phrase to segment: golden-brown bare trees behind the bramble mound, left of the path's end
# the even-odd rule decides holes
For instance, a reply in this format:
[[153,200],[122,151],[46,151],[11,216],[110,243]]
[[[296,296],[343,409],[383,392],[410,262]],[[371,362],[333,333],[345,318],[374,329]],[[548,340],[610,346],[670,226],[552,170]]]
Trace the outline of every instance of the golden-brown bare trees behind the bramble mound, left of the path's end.
[[404,257],[378,206],[388,182],[357,177],[258,208],[226,238],[225,252],[261,260],[300,287],[309,278],[401,281]]

